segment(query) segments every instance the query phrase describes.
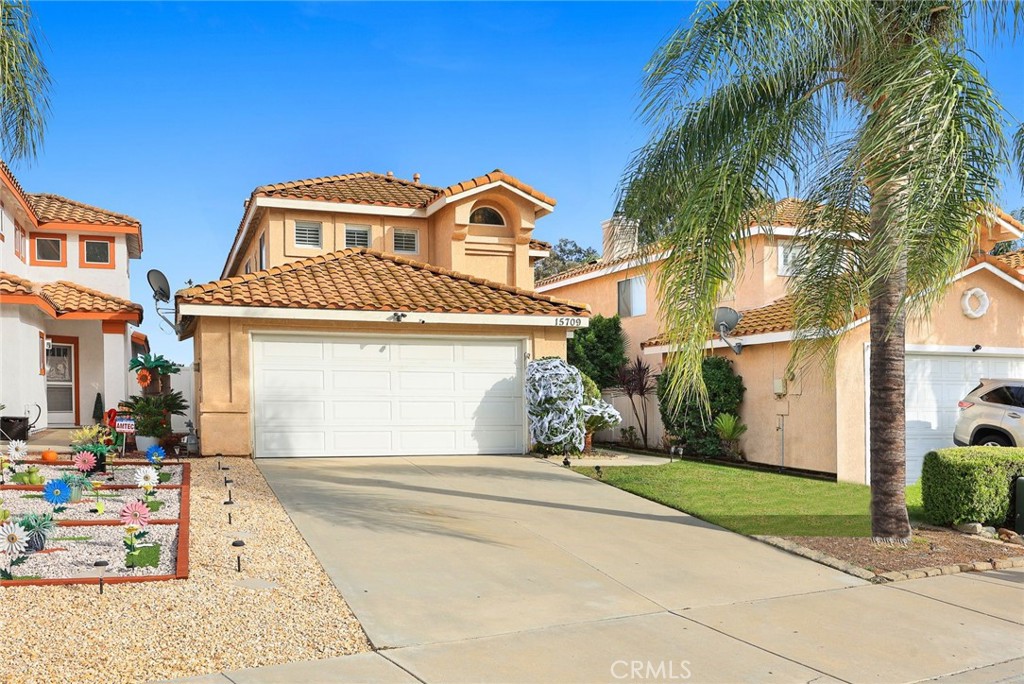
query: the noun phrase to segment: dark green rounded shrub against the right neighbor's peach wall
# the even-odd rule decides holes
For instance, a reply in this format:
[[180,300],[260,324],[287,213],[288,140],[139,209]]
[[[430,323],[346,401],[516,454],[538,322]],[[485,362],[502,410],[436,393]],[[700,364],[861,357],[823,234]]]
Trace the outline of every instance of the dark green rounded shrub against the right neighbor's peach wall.
[[674,434],[683,448],[693,456],[718,458],[725,456],[722,440],[714,427],[714,417],[720,414],[739,415],[743,400],[743,379],[732,370],[732,360],[724,356],[708,356],[701,366],[711,415],[701,411],[696,398],[673,402],[669,396],[671,367],[657,378],[657,401],[665,429]]

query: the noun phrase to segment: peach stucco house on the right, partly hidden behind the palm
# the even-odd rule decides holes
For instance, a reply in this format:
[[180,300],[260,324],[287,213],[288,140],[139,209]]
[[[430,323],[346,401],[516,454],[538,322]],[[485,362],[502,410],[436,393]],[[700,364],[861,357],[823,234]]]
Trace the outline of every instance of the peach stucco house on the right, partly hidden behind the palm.
[[[746,392],[740,407],[749,426],[740,446],[750,461],[834,473],[866,482],[868,318],[857,320],[840,348],[835,377],[817,366],[786,375],[794,337],[786,282],[799,253],[797,220],[804,211],[793,199],[776,204],[768,226],[751,226],[745,265],[721,305],[742,318],[733,337],[736,355],[718,339],[711,353],[734,361]],[[770,234],[769,234],[770,232]],[[538,292],[591,305],[594,313],[623,316],[629,351],[655,369],[672,353],[658,334],[662,318],[655,285],[664,252],[637,254],[618,244],[614,224],[604,225],[607,257],[598,263],[538,283]],[[928,320],[907,328],[907,474],[915,480],[924,455],[952,444],[956,402],[980,378],[1024,377],[1024,252],[993,257],[998,242],[1019,239],[1024,225],[993,209],[979,221],[977,255],[951,282]],[[609,254],[610,246],[610,254]],[[626,408],[623,399],[616,405]],[[656,414],[656,411],[652,411]],[[628,412],[624,412],[632,420]],[[660,421],[652,418],[660,429]],[[656,433],[656,430],[654,431]],[[653,443],[657,443],[654,434]]]

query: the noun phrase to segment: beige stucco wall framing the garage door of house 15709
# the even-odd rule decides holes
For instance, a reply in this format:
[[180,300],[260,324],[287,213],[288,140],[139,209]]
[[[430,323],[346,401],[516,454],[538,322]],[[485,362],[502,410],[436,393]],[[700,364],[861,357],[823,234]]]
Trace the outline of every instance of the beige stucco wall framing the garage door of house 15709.
[[453,325],[407,328],[409,330],[400,330],[396,324],[201,317],[194,335],[194,346],[198,369],[198,427],[203,453],[225,456],[252,454],[249,343],[253,332],[382,334],[391,337],[507,337],[525,339],[531,358],[565,357],[564,328]]

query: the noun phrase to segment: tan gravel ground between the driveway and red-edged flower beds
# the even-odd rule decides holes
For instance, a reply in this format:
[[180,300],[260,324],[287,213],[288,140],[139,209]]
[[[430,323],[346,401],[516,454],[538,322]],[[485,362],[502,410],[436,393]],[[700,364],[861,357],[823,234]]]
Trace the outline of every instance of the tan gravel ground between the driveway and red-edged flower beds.
[[[140,682],[370,650],[252,461],[193,462],[188,580],[0,587],[0,682]],[[233,506],[224,506],[228,474]],[[227,510],[233,524],[227,524]],[[59,529],[56,537],[67,536]],[[242,572],[236,572],[243,540]],[[237,583],[260,580],[275,588]]]

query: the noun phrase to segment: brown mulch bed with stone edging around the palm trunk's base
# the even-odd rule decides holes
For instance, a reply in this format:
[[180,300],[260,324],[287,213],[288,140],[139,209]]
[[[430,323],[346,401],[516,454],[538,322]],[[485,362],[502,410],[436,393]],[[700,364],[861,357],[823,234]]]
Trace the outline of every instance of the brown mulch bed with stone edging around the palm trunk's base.
[[1024,547],[996,544],[951,529],[915,529],[906,547],[877,545],[869,538],[857,537],[784,539],[873,572],[970,564],[1024,555]]

